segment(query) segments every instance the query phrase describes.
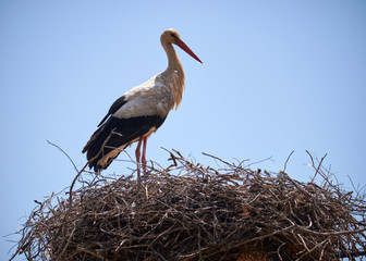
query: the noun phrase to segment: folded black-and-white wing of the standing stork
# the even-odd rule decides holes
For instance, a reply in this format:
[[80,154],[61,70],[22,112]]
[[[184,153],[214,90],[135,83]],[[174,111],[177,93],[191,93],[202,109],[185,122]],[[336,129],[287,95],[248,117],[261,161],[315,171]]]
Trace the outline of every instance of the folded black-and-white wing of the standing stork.
[[102,153],[90,162],[89,166],[95,170],[107,167],[126,146],[160,127],[172,105],[173,99],[170,94],[135,97],[130,101],[121,97],[112,104],[101,125],[83,149],[83,153],[87,152],[87,160],[90,160],[99,153],[106,142]]

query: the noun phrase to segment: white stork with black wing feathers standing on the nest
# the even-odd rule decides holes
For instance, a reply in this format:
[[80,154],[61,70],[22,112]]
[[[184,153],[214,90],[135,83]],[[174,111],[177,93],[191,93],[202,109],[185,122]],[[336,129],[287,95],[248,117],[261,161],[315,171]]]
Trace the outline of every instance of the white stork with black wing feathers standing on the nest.
[[184,71],[173,45],[203,63],[175,29],[166,29],[160,36],[160,42],[168,57],[167,69],[133,87],[112,103],[82,151],[86,153],[90,170],[106,170],[121,151],[137,141],[137,179],[141,178],[141,163],[144,174],[146,173],[147,138],[182,101]]

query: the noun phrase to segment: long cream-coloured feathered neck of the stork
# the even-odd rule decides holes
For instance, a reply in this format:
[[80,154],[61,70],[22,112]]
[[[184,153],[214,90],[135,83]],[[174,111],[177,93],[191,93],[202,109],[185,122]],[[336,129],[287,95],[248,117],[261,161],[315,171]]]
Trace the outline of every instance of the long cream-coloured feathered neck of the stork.
[[184,71],[171,44],[162,45],[168,55],[168,67],[162,72],[167,86],[170,87],[175,109],[181,103],[184,90]]

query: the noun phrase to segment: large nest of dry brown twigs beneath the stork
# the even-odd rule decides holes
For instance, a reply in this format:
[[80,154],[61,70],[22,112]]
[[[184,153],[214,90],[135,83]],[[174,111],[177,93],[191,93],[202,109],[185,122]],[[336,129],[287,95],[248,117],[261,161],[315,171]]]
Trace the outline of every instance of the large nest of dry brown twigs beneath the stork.
[[[133,176],[88,174],[30,213],[13,256],[28,260],[338,260],[365,257],[366,201],[321,164],[314,182],[212,157]],[[313,158],[312,158],[313,160]],[[313,161],[314,162],[314,161]],[[86,175],[86,173],[84,173]],[[314,179],[314,178],[313,178]],[[73,186],[72,186],[73,187]]]

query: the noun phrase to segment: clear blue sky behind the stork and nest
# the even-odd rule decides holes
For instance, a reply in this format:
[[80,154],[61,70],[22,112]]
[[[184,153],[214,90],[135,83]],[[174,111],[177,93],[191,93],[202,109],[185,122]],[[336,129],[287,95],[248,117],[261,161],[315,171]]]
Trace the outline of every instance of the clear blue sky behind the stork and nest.
[[[307,182],[309,150],[328,153],[345,188],[365,186],[366,2],[21,1],[0,2],[0,259],[32,209],[70,186],[89,136],[111,103],[163,71],[160,34],[175,28],[199,57],[178,54],[186,89],[178,111],[150,137],[216,166],[271,157],[252,167]],[[135,145],[127,149],[134,154]],[[127,160],[121,153],[121,160]],[[108,173],[130,174],[114,162]],[[131,164],[129,165],[132,166]]]

